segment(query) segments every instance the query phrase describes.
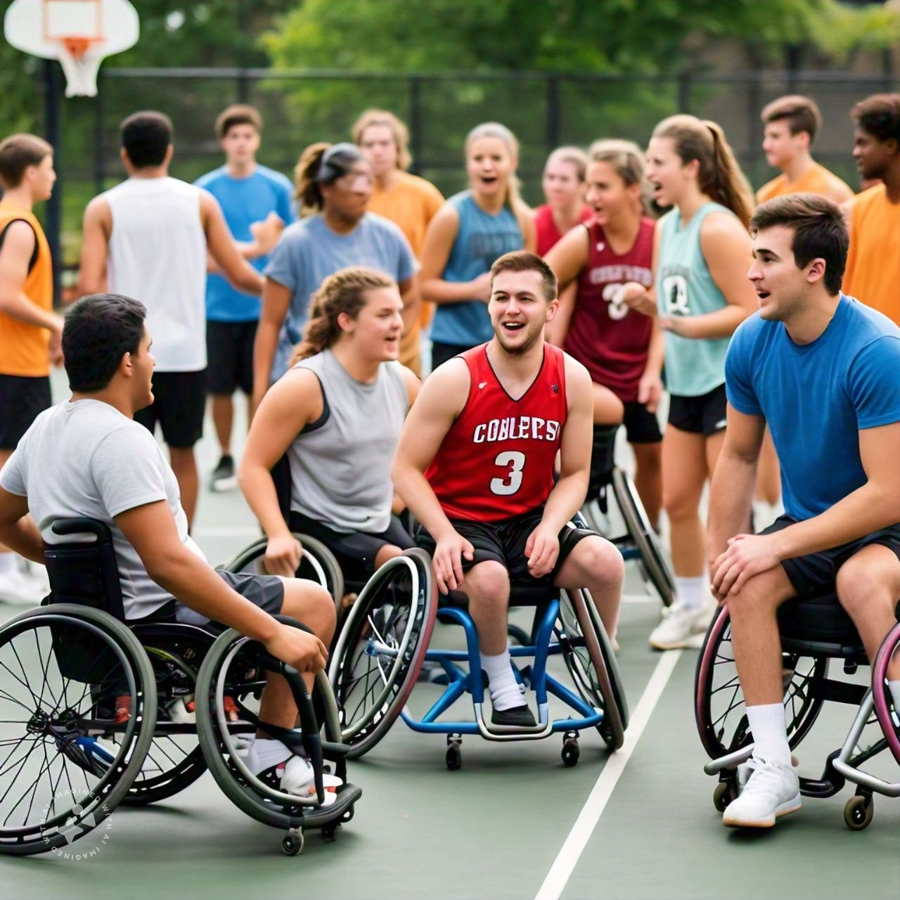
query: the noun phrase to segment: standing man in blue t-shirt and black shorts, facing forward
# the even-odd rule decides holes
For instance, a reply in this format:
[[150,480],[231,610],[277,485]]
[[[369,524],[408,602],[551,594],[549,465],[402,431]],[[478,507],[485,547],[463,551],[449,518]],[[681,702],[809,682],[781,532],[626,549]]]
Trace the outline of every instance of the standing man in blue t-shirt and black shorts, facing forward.
[[[220,112],[216,137],[225,165],[202,175],[194,184],[219,201],[242,255],[262,272],[268,250],[285,224],[293,221],[293,185],[280,172],[257,163],[263,120],[252,106],[236,103]],[[212,423],[219,438],[220,460],[212,472],[213,491],[238,486],[231,456],[231,427],[238,388],[247,395],[247,420],[252,418],[253,343],[259,321],[259,298],[232,287],[211,269],[206,280],[207,387],[212,395]]]

